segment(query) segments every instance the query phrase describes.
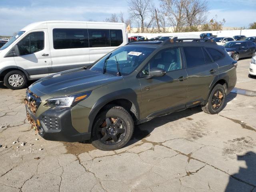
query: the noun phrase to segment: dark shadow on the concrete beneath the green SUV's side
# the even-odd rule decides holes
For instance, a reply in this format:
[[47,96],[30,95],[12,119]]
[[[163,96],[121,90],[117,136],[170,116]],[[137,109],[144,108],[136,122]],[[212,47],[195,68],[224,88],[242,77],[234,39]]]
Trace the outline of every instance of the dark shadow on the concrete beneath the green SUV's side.
[[[226,96],[226,100],[224,103],[224,108],[226,107],[227,103],[232,101],[234,98],[236,98],[236,93],[230,93],[228,96]],[[202,112],[202,109],[200,106],[196,106],[193,108],[188,108],[186,110],[180,111],[180,112],[174,112],[172,114],[162,116],[162,117],[157,117],[154,118],[148,122],[145,122],[143,124],[137,125],[134,128],[134,133],[131,138],[131,140],[126,144],[126,146],[132,145],[143,138],[146,138],[150,135],[150,133],[157,127],[162,126],[164,124],[174,122],[178,119],[181,118],[187,118],[188,120],[192,120],[189,118],[189,116]]]

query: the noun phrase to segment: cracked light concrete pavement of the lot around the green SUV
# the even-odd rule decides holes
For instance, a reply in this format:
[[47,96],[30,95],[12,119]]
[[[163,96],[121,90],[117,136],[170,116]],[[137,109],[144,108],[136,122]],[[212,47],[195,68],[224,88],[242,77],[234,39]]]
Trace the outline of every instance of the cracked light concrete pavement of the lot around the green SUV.
[[[236,87],[256,91],[249,61],[238,62]],[[24,96],[0,82],[2,192],[256,192],[256,97],[231,93],[216,115],[196,107],[155,118],[126,147],[100,151],[40,138]]]

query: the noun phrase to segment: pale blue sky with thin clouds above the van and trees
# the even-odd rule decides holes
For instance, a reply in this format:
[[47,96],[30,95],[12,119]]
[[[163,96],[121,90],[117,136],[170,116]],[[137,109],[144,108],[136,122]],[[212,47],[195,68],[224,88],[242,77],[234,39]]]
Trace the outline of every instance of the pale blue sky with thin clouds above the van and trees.
[[[156,5],[159,0],[153,0]],[[225,18],[224,26],[248,27],[256,22],[256,0],[208,0],[208,19]],[[13,35],[24,26],[44,20],[103,21],[124,13],[127,0],[0,0],[0,35]]]

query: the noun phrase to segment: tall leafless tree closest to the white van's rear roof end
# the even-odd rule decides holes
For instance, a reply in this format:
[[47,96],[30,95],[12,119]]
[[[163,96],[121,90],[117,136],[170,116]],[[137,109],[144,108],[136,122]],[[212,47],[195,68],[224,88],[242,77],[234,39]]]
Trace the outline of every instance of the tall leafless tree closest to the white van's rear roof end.
[[130,16],[140,21],[141,32],[144,32],[145,20],[150,12],[151,0],[128,0]]

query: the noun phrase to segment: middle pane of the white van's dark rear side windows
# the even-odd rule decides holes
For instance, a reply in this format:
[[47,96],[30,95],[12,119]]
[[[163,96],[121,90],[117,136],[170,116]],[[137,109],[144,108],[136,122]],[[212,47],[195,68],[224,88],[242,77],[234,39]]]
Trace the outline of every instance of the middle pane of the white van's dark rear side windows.
[[108,29],[88,29],[90,47],[109,47],[110,36]]

